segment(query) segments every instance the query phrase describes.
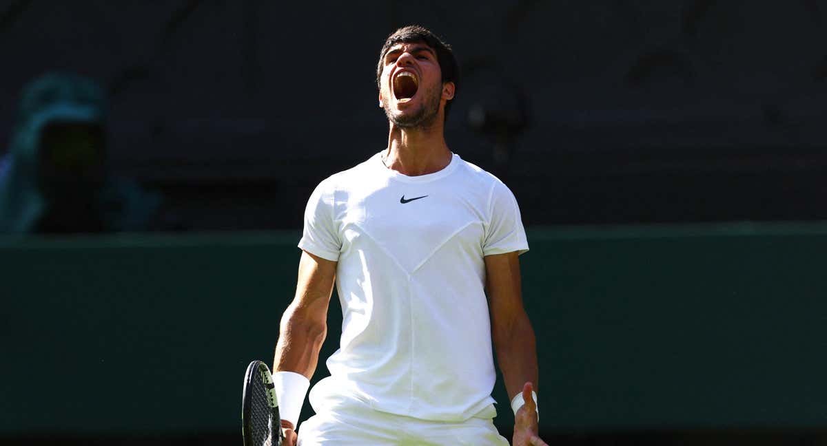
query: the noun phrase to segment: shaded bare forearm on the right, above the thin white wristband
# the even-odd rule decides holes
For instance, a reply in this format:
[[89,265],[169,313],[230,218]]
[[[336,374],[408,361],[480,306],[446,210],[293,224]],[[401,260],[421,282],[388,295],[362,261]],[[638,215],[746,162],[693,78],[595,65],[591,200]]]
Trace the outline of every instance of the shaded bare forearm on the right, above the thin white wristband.
[[537,389],[537,346],[528,316],[522,312],[498,331],[495,332],[494,347],[509,398],[522,391],[526,382],[532,382]]

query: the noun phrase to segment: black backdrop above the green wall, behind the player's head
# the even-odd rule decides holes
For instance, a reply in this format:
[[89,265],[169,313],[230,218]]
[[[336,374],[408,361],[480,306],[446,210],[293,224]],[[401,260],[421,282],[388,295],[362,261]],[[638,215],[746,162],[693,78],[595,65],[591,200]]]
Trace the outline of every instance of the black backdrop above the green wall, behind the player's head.
[[[506,180],[526,225],[824,219],[825,9],[0,2],[0,136],[26,81],[87,74],[110,93],[112,168],[182,226],[297,228],[319,180],[385,148],[378,50],[421,23],[465,75],[448,144]],[[480,133],[474,110],[500,119]]]

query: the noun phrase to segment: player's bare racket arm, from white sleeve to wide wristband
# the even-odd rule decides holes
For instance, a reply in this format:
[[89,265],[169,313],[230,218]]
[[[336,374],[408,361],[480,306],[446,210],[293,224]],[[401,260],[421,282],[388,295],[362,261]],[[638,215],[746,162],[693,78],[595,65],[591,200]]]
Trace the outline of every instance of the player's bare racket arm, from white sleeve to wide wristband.
[[310,379],[327,335],[327,306],[336,278],[336,262],[302,251],[293,302],[281,317],[275,347],[275,372],[296,372]]

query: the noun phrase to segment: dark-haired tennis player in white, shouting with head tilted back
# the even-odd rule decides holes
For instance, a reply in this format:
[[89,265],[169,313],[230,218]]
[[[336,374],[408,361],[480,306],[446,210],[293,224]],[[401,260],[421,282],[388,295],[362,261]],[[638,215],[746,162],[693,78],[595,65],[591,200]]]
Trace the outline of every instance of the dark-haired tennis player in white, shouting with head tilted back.
[[[287,444],[507,445],[491,421],[491,339],[514,397],[514,444],[545,444],[520,295],[528,243],[509,189],[445,142],[457,91],[452,50],[406,26],[385,40],[376,80],[387,149],[325,179],[305,212],[298,287],[275,352]],[[316,415],[297,438],[334,278],[341,348],[310,392]]]

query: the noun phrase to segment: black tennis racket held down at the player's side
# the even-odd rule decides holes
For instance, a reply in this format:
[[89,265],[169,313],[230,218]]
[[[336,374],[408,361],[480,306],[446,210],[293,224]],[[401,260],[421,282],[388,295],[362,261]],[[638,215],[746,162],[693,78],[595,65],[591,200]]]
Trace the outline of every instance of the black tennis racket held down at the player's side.
[[244,392],[241,396],[241,434],[244,446],[280,446],[284,441],[281,432],[279,407],[275,400],[273,375],[261,361],[253,361],[244,375]]

